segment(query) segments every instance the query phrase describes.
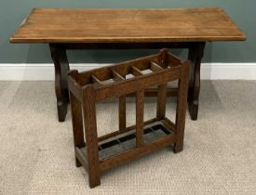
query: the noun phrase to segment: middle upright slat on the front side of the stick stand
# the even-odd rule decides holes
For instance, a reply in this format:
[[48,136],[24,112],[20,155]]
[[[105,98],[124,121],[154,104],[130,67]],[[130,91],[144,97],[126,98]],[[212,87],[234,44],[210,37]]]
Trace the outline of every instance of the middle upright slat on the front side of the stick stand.
[[144,90],[136,93],[136,147],[143,145]]

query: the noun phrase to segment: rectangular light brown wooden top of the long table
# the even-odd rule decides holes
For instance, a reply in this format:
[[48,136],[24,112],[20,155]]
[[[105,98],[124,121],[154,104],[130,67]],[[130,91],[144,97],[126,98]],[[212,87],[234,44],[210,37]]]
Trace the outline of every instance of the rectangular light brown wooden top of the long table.
[[11,43],[244,41],[219,7],[163,9],[34,8]]

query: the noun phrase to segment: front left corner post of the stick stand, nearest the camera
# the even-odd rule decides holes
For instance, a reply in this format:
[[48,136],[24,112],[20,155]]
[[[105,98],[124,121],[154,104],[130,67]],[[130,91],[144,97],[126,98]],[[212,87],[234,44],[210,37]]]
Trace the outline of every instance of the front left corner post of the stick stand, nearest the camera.
[[88,154],[88,179],[89,187],[94,188],[101,184],[101,178],[96,124],[96,101],[92,85],[89,85],[83,91],[83,97],[83,113]]

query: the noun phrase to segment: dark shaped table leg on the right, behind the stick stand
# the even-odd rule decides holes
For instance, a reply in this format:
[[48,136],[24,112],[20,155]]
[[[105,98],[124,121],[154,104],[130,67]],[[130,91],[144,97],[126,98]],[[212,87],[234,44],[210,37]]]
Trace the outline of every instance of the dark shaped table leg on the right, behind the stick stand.
[[200,92],[200,68],[201,59],[204,56],[205,42],[193,43],[189,48],[188,58],[192,62],[190,69],[190,81],[188,90],[188,104],[192,120],[197,119],[198,97]]

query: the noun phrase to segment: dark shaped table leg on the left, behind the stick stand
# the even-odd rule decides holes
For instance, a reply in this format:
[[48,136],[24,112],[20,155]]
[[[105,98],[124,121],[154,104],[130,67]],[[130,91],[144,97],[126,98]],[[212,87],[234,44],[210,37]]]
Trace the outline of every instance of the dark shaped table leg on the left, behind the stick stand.
[[50,44],[51,58],[55,67],[55,93],[57,97],[57,109],[59,122],[65,121],[69,102],[67,71],[69,63],[66,49],[60,45]]

